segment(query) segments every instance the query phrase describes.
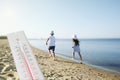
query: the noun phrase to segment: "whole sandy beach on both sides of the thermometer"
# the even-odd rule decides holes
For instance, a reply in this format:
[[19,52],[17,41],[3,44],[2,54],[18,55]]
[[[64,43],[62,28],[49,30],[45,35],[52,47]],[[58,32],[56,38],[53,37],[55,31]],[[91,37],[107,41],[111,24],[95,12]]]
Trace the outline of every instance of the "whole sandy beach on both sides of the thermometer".
[[[47,52],[32,47],[46,80],[120,80],[120,74],[60,58],[53,60]],[[0,80],[19,80],[6,39],[0,39]]]

